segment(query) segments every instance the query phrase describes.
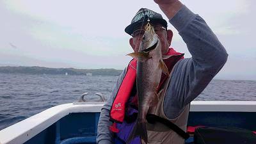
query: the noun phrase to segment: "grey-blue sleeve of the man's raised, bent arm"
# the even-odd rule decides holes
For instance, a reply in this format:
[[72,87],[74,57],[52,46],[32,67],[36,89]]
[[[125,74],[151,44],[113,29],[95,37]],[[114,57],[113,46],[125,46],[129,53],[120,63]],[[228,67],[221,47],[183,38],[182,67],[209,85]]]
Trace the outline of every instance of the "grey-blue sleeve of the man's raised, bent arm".
[[228,54],[204,19],[186,6],[169,21],[179,31],[192,56],[178,61],[170,77],[164,113],[168,118],[175,118],[221,70]]

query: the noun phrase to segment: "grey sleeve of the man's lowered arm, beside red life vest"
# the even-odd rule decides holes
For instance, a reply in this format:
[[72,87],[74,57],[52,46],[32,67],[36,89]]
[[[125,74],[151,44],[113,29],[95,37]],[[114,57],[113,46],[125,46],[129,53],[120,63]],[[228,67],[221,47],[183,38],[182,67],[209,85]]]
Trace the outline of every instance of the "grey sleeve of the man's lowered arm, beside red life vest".
[[108,98],[106,104],[101,109],[98,129],[97,129],[97,144],[112,144],[113,143],[113,132],[109,131],[109,126],[112,125],[112,122],[109,121],[109,111],[115,100],[116,93],[124,79],[126,72],[125,70],[118,77],[118,80],[113,88],[111,96]]

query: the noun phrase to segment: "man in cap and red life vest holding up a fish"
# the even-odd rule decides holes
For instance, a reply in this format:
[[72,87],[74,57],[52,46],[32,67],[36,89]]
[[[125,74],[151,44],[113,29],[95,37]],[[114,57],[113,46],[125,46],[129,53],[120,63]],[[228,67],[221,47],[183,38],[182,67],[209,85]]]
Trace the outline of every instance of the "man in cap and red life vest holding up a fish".
[[[156,12],[142,8],[132,19],[125,32],[132,36],[129,43],[138,51],[143,35],[145,15],[149,18],[161,41],[163,55],[170,77],[162,75],[159,88],[162,91],[156,107],[148,113],[160,116],[186,131],[190,102],[195,99],[220,71],[227,61],[227,52],[205,21],[191,12],[178,0],[154,0],[168,17],[169,22],[179,31],[188,46],[192,58],[170,49],[173,33],[166,30],[167,22]],[[97,143],[125,143],[134,124],[136,113],[136,83],[134,83],[134,60],[119,77],[111,97],[102,108]],[[118,101],[119,100],[119,101]],[[122,102],[125,102],[123,104]],[[109,120],[110,119],[110,120]],[[159,123],[147,124],[148,143],[184,143],[184,138]],[[131,143],[141,143],[135,138]]]

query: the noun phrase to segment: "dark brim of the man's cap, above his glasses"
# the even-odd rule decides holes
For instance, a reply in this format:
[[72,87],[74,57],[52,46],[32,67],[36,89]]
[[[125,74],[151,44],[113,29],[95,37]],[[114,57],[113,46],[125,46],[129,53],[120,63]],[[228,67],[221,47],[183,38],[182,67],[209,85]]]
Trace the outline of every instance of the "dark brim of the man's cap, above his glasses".
[[[143,22],[143,20],[139,20],[138,22],[134,22],[133,24],[130,24],[129,26],[127,26],[124,29],[124,31],[126,33],[128,33],[129,35],[132,35],[132,33],[135,30],[135,28],[138,28],[139,26],[141,26],[142,22]],[[163,24],[163,26],[167,27],[167,22],[164,19],[150,19],[150,22]]]

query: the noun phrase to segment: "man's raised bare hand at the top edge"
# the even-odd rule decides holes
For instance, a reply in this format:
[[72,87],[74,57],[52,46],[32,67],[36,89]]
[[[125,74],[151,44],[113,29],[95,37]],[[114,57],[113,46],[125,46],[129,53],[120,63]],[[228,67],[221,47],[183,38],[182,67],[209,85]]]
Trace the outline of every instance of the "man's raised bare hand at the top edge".
[[182,3],[179,0],[154,0],[159,5],[159,8],[164,12],[168,19],[179,12]]

